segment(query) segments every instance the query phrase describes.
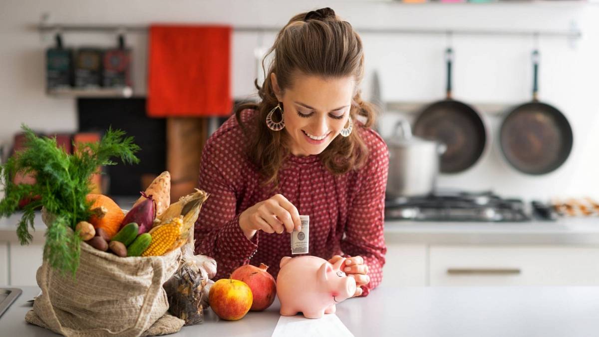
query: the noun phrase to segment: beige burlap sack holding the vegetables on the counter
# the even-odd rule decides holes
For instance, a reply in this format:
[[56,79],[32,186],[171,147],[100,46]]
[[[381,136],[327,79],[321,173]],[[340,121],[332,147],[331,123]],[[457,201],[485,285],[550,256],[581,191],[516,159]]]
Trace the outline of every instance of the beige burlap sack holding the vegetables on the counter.
[[35,315],[28,313],[26,321],[65,336],[141,336],[150,327],[149,335],[177,332],[183,326],[179,318],[168,315],[162,326],[153,324],[168,310],[162,284],[180,260],[180,249],[123,258],[82,242],[75,278],[60,275],[46,261],[38,269],[42,294],[34,302]]

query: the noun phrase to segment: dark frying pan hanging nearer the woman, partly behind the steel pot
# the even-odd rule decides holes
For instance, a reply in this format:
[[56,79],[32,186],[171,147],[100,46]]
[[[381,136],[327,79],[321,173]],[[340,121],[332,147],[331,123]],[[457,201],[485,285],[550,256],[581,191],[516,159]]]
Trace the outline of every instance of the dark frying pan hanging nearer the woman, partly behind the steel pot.
[[414,134],[444,143],[441,156],[443,173],[458,173],[476,163],[485,151],[487,130],[483,119],[468,104],[452,98],[453,50],[445,52],[447,62],[447,97],[427,106],[414,124]]

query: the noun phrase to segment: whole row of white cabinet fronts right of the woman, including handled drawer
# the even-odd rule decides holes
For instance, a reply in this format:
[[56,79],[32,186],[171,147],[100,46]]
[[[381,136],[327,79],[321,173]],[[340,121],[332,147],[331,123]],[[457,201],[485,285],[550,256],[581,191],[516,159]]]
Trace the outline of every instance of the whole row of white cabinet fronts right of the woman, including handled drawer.
[[599,285],[599,246],[387,243],[383,284]]

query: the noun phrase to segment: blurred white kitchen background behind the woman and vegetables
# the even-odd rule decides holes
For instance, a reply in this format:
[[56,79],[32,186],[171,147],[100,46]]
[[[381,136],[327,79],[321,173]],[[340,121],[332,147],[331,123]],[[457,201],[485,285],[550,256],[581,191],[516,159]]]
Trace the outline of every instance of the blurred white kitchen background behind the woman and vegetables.
[[[104,168],[99,191],[126,208],[169,170],[187,194],[207,137],[256,100],[276,32],[321,7],[361,34],[392,154],[383,282],[599,284],[599,1],[4,0],[1,158],[22,123],[67,151],[112,125],[141,164]],[[519,107],[534,62],[544,105]],[[34,285],[43,230],[20,246],[15,226],[0,219],[0,284]]]

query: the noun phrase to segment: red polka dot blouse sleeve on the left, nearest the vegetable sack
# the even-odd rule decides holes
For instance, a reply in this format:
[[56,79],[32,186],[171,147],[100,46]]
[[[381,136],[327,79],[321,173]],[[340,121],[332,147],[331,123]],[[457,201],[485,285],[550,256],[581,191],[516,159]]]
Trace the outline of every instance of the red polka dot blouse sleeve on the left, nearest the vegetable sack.
[[[204,147],[199,170],[200,189],[209,196],[195,223],[195,253],[208,255],[217,264],[215,279],[227,278],[237,267],[249,263],[258,248],[258,233],[248,240],[239,227],[236,212],[235,173],[222,151],[212,142]],[[225,167],[226,166],[226,167]]]

